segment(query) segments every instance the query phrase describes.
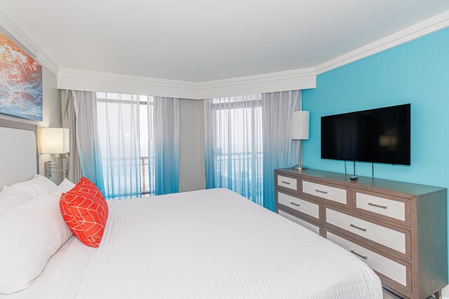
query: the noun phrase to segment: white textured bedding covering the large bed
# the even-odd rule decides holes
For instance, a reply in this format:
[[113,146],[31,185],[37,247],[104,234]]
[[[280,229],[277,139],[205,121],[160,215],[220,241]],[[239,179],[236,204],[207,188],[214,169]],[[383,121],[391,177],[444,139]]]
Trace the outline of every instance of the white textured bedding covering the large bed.
[[382,298],[382,287],[340,246],[213,189],[115,201],[99,249],[72,237],[6,297],[359,299]]

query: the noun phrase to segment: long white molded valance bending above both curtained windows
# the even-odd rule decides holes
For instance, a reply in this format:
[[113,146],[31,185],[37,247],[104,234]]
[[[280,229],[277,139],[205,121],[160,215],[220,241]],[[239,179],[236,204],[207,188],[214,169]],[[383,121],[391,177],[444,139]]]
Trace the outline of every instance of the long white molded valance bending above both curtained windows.
[[130,92],[188,99],[315,87],[314,68],[203,82],[177,81],[63,67],[58,72],[58,89]]

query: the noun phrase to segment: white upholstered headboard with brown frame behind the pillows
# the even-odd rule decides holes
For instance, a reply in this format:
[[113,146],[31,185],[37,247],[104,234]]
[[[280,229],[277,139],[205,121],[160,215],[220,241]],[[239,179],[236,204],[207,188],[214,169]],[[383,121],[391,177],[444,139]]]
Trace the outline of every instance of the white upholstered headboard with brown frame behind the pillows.
[[37,125],[0,118],[0,190],[39,172]]

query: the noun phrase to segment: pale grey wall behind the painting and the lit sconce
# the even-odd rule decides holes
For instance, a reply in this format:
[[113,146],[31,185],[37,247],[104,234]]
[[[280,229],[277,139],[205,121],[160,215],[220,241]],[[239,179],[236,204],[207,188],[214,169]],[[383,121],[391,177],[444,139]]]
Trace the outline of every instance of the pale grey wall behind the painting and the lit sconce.
[[[50,70],[48,70],[46,67],[42,67],[43,120],[41,122],[35,122],[32,120],[22,120],[21,118],[4,116],[2,114],[0,114],[0,118],[21,121],[24,123],[32,123],[34,125],[38,125],[39,127],[61,127],[60,92],[58,91],[56,84],[57,84],[56,75],[53,74]],[[45,169],[43,168],[43,162],[47,160],[54,161],[54,158],[49,154],[39,155],[39,174],[44,175]],[[60,183],[60,181],[62,181],[62,175],[54,174],[52,181],[54,181],[55,183]]]

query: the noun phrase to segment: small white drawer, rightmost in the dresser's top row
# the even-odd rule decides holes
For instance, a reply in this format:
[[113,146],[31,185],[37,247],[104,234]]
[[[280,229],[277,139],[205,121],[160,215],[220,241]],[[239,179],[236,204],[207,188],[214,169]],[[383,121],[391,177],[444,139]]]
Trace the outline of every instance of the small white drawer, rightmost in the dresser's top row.
[[356,207],[383,216],[406,221],[406,203],[356,192]]

